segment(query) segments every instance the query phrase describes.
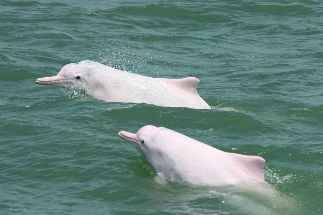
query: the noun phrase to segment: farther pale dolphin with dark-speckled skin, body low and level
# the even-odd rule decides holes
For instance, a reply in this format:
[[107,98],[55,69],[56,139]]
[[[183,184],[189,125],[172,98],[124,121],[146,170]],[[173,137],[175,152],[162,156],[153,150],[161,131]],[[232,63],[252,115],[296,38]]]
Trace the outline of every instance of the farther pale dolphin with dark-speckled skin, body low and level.
[[37,84],[82,88],[107,102],[148,103],[166,107],[210,109],[196,91],[199,79],[151,78],[94,62],[65,65],[56,76],[38,78]]

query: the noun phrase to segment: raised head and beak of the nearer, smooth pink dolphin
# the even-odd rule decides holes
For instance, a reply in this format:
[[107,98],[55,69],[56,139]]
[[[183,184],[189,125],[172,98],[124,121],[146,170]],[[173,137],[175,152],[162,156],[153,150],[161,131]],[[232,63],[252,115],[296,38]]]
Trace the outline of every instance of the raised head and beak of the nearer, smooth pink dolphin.
[[159,130],[156,126],[146,125],[139,129],[137,133],[120,131],[119,137],[131,143],[138,151],[147,157],[153,147],[154,134]]

